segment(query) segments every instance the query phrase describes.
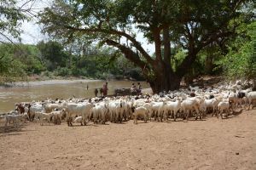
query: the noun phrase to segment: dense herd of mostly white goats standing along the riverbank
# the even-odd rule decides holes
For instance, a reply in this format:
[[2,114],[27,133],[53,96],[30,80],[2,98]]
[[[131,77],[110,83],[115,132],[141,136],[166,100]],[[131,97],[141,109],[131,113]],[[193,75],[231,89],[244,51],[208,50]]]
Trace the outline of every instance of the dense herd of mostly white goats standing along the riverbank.
[[[20,122],[39,121],[61,124],[67,121],[68,126],[74,122],[86,125],[88,122],[123,122],[133,119],[147,122],[163,122],[177,118],[189,120],[189,117],[202,119],[207,114],[228,117],[236,115],[242,108],[249,110],[256,102],[256,91],[243,89],[234,85],[218,88],[201,89],[198,87],[181,89],[160,94],[139,96],[96,97],[91,99],[46,99],[38,102],[15,104],[15,111],[2,114],[5,128],[13,123],[17,128]],[[241,108],[236,112],[236,109]]]

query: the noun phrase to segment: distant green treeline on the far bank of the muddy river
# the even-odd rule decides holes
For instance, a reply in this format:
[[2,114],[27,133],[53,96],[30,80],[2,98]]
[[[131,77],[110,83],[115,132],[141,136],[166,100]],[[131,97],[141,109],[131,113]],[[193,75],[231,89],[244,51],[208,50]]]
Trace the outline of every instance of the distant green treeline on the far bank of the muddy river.
[[64,46],[60,42],[0,44],[2,82],[25,80],[27,76],[131,78],[143,80],[141,71],[110,48]]

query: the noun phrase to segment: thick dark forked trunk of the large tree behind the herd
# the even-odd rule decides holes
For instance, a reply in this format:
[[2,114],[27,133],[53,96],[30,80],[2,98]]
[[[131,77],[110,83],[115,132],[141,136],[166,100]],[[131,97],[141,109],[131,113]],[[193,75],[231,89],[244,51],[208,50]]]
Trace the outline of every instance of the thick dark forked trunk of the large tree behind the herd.
[[[191,59],[187,59],[187,62],[183,64],[182,69],[180,68],[179,71],[174,72],[172,71],[172,66],[169,60],[162,60],[160,53],[158,53],[160,55],[157,56],[158,59],[149,60],[149,62],[146,63],[130,48],[127,48],[118,42],[114,42],[113,40],[106,40],[106,42],[108,45],[119,48],[119,50],[125,54],[126,59],[131,60],[131,62],[142,69],[143,76],[148,80],[154,94],[158,94],[163,91],[168,92],[169,90],[177,90],[180,87],[183,75],[187,71],[187,67],[189,68]],[[169,46],[169,44],[166,44],[166,46]],[[156,45],[156,47],[159,47],[159,45]],[[167,54],[169,54],[169,52],[166,51],[166,58]],[[148,65],[152,67],[150,68]],[[152,74],[152,72],[154,74]]]

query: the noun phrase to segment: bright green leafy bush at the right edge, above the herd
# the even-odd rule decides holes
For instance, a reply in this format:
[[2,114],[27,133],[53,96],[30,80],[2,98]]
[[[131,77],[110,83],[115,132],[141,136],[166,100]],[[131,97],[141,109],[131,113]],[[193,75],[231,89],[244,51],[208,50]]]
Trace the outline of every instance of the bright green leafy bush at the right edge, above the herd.
[[256,78],[256,21],[243,24],[228,46],[228,54],[218,61],[230,78]]

